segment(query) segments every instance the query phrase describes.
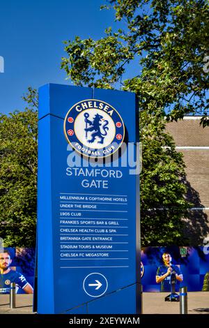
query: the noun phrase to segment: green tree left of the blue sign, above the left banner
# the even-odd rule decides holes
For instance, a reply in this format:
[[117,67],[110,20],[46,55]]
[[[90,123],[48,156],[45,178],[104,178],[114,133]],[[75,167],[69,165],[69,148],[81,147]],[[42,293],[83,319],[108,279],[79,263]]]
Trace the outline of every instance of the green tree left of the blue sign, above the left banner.
[[36,245],[36,90],[24,96],[28,107],[0,114],[0,237],[4,246]]

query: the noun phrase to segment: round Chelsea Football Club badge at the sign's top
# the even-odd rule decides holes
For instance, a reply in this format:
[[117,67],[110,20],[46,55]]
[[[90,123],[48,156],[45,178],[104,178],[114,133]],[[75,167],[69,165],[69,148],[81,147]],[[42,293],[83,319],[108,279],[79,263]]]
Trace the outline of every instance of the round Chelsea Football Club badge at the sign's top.
[[114,107],[102,100],[87,99],[70,108],[65,117],[64,132],[79,154],[104,158],[121,147],[125,128]]

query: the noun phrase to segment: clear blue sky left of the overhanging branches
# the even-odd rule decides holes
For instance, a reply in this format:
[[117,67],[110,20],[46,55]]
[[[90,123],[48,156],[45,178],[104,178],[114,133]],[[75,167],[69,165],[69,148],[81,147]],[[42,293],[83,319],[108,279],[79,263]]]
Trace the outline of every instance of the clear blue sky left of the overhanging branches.
[[8,0],[0,3],[0,112],[23,110],[27,87],[48,82],[69,84],[60,69],[63,40],[94,39],[114,24],[105,0]]

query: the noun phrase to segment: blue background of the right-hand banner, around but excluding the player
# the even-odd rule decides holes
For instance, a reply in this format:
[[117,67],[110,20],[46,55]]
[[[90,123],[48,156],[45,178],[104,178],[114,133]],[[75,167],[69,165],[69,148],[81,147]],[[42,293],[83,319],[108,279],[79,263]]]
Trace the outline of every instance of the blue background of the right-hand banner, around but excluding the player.
[[176,284],[176,291],[187,286],[189,292],[209,291],[209,251],[208,246],[185,247],[185,256],[180,255],[180,247],[144,247],[141,250],[141,283],[144,292],[160,292],[156,283],[158,267],[163,265],[162,254],[171,254],[172,264],[180,269],[183,281]]

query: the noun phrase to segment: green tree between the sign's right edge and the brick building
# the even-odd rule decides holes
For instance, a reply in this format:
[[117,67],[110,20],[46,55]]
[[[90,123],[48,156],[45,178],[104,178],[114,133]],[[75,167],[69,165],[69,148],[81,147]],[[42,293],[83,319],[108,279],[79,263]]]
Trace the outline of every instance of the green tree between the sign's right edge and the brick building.
[[185,199],[185,165],[165,122],[141,113],[143,143],[141,171],[141,244],[143,246],[189,244],[185,235],[190,203]]

